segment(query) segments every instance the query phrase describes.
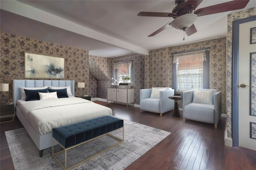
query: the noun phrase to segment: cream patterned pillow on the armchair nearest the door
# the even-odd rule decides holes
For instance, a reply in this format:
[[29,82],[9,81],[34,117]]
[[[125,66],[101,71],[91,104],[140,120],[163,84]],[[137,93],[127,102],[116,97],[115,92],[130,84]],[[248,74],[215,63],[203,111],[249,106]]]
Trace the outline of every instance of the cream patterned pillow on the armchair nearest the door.
[[196,90],[194,89],[193,103],[213,104],[213,90]]

